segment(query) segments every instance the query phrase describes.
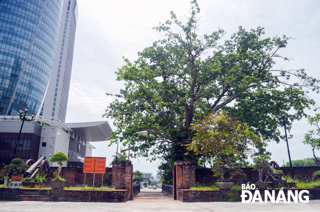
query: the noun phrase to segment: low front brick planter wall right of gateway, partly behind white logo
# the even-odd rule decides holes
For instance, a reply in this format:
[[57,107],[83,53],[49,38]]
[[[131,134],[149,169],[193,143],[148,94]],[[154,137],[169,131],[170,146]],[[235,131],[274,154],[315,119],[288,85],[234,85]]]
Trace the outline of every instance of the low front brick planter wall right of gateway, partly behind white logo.
[[[298,192],[302,190],[309,191],[309,200],[320,199],[320,188],[299,188],[299,189],[283,189],[287,199],[288,190]],[[255,190],[250,190],[252,194]],[[271,190],[270,190],[271,191]],[[280,190],[275,190],[275,196],[278,195]],[[271,192],[270,192],[271,193]],[[294,193],[294,192],[293,192]],[[177,190],[177,200],[181,202],[224,202],[224,201],[241,201],[241,190]],[[260,190],[260,195],[264,201],[264,190]],[[304,195],[307,196],[307,195]]]

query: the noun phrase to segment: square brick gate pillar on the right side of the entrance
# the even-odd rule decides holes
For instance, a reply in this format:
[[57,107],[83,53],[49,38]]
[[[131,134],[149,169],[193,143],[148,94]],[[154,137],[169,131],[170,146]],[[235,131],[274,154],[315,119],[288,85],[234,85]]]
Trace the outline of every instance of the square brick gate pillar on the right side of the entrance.
[[189,189],[195,183],[194,161],[176,162],[176,189]]

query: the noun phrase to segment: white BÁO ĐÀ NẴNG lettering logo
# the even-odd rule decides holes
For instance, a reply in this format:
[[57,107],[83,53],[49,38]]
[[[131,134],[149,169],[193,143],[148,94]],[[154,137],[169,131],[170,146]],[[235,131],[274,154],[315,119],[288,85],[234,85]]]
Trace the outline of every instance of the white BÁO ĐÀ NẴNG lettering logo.
[[[279,201],[283,201],[284,203],[290,203],[291,198],[294,203],[298,203],[298,200],[301,203],[309,202],[309,196],[303,195],[303,194],[309,195],[309,191],[307,190],[302,190],[300,192],[298,192],[297,190],[294,190],[294,191],[287,190],[287,198],[286,198],[285,192],[282,189],[283,188],[279,190],[265,190],[264,202],[267,203],[269,200],[272,203],[278,203]],[[249,183],[247,185],[242,184],[241,199],[242,199],[242,203],[249,203],[249,202],[255,203],[256,201],[263,203],[260,191],[256,190],[255,184],[251,184],[251,185],[249,185]]]

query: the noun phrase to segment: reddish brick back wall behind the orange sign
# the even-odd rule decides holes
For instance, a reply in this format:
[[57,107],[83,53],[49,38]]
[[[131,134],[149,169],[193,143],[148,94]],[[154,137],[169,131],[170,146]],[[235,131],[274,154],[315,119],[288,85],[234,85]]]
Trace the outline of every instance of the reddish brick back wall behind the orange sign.
[[[49,177],[53,178],[53,172],[57,171],[57,167],[50,167]],[[112,168],[106,167],[106,173],[103,174],[103,185],[111,186],[111,173]],[[62,167],[60,174],[61,178],[66,180],[66,186],[83,185],[84,183],[84,173],[83,167]],[[86,173],[85,183],[93,184],[94,174]],[[95,185],[102,183],[102,174],[95,175]]]

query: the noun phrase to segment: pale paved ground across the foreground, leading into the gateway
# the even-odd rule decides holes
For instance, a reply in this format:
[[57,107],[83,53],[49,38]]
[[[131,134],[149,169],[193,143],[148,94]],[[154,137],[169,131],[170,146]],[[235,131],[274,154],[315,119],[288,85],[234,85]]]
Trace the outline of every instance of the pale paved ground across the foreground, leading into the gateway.
[[0,201],[0,212],[320,212],[320,200],[309,203],[183,203],[160,192],[142,190],[126,203],[100,202],[8,202]]

